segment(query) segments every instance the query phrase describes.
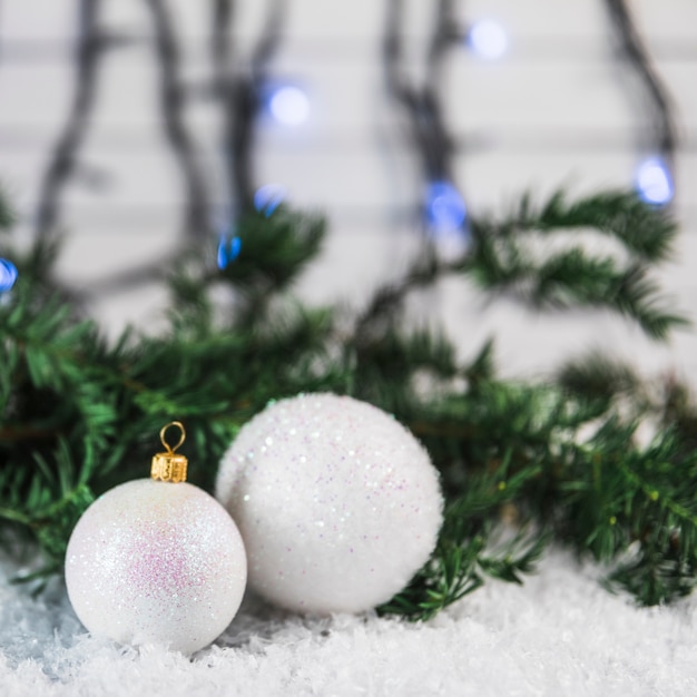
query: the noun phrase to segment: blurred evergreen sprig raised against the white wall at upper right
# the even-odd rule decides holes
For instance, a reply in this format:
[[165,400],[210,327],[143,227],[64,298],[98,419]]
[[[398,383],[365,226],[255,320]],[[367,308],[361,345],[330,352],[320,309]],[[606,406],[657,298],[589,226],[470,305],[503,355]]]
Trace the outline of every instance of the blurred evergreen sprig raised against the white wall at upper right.
[[[540,259],[528,235],[579,228],[611,234],[637,261],[627,264],[611,255],[592,256],[580,245]],[[656,340],[687,324],[668,308],[648,277],[649,264],[668,255],[675,225],[665,212],[642,204],[634,194],[596,195],[567,205],[558,193],[539,210],[523,197],[519,209],[501,223],[472,220],[472,233],[475,245],[464,271],[488,291],[505,291],[541,308],[609,307]]]

